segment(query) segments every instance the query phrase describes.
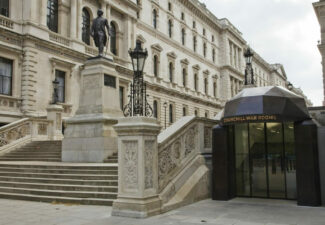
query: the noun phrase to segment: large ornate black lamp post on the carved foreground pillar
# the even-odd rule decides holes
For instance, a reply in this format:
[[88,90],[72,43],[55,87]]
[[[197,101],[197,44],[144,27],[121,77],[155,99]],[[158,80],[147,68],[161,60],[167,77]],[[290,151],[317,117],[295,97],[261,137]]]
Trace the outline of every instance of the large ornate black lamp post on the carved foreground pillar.
[[134,71],[133,83],[131,83],[129,103],[123,108],[124,116],[153,115],[153,110],[147,101],[146,83],[143,79],[143,68],[148,56],[147,50],[143,50],[141,42],[137,42],[134,50],[129,50]]

